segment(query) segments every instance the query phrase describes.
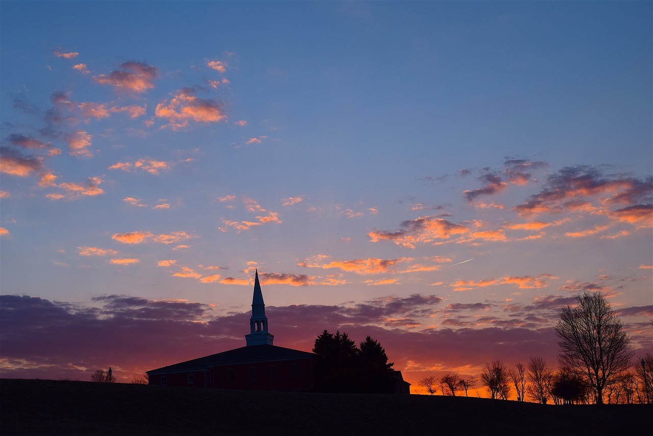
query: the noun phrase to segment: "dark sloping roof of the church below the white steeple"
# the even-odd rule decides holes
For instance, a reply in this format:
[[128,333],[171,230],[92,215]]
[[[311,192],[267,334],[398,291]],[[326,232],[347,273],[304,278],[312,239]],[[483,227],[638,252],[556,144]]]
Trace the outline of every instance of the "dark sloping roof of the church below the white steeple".
[[292,348],[284,348],[283,346],[274,345],[249,345],[233,350],[204,356],[193,360],[187,360],[174,365],[152,369],[147,371],[148,374],[166,374],[166,373],[180,373],[186,371],[204,371],[208,367],[223,366],[223,365],[237,365],[239,363],[257,363],[266,361],[280,361],[280,360],[298,360],[310,359],[313,353],[306,351],[293,350]]

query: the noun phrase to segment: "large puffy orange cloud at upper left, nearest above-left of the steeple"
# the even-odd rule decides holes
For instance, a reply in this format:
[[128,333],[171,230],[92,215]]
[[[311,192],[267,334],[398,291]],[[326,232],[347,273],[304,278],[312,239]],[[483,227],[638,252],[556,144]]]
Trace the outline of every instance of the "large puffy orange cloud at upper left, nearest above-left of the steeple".
[[168,127],[180,130],[189,122],[219,123],[227,120],[221,106],[213,99],[200,99],[194,88],[178,90],[174,97],[159,103],[155,109],[157,118],[164,118]]

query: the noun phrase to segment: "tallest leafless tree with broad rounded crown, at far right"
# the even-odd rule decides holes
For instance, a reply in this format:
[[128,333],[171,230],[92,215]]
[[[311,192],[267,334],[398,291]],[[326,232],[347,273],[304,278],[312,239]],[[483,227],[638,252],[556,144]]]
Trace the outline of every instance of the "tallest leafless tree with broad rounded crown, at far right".
[[603,389],[631,365],[633,352],[624,325],[600,292],[579,295],[576,307],[563,307],[559,316],[558,363],[586,377],[596,403],[603,404]]

